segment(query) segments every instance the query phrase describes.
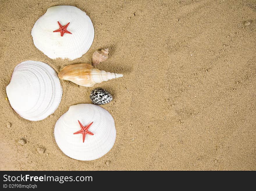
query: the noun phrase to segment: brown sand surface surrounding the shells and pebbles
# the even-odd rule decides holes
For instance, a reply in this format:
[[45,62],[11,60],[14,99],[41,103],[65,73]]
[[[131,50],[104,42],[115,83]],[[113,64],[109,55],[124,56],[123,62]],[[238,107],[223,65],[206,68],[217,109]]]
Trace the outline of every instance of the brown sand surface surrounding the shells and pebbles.
[[[255,0],[0,4],[1,170],[256,170]],[[33,44],[35,21],[56,5],[77,6],[95,28],[92,47],[74,61],[49,59]],[[62,101],[51,118],[25,120],[5,99],[22,61],[59,72],[91,63],[93,52],[107,47],[109,59],[97,68],[124,77],[91,88],[61,80]],[[77,161],[58,148],[54,125],[71,105],[91,103],[97,87],[114,97],[102,107],[115,119],[116,142],[100,159]]]

